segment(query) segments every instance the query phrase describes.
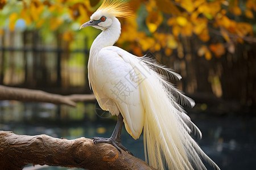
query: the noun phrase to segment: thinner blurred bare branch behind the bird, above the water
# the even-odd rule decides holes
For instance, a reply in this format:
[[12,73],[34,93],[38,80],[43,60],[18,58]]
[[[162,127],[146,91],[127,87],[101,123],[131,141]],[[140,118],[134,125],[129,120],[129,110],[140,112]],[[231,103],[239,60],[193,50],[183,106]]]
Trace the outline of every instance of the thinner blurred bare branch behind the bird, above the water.
[[95,101],[94,95],[62,96],[40,90],[0,86],[0,100],[38,101],[53,104],[67,104],[73,107],[78,101]]

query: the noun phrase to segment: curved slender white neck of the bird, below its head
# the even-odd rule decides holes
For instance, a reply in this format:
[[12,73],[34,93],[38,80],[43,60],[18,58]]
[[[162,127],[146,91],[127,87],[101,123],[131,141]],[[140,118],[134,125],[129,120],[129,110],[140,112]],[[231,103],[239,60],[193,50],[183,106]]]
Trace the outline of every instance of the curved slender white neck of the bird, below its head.
[[112,25],[104,29],[100,35],[93,41],[93,44],[90,48],[90,56],[92,54],[98,53],[102,48],[106,46],[112,46],[119,39],[121,33],[121,24],[117,18],[113,18]]

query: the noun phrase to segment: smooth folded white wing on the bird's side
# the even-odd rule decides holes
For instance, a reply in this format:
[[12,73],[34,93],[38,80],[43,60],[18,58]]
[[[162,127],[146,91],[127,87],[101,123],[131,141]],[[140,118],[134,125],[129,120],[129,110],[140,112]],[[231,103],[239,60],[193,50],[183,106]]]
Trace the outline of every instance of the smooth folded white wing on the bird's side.
[[116,115],[121,112],[127,132],[137,139],[144,125],[144,108],[135,68],[122,51],[113,46],[100,50],[92,88],[101,108]]

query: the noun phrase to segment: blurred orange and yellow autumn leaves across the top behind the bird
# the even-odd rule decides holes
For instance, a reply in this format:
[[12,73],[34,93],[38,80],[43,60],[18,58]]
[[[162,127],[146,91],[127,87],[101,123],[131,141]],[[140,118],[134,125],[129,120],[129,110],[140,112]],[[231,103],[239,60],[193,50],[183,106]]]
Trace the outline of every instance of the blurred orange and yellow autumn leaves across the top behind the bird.
[[[255,0],[129,2],[135,17],[121,19],[122,35],[117,44],[138,56],[147,50],[163,50],[170,56],[173,50],[183,48],[181,37],[199,39],[197,54],[208,60],[226,52],[234,53],[238,43],[256,42]],[[0,24],[14,31],[17,20],[22,19],[27,28],[59,31],[64,41],[71,42],[79,26],[89,20],[100,4],[100,0],[0,0],[1,16],[8,18]]]

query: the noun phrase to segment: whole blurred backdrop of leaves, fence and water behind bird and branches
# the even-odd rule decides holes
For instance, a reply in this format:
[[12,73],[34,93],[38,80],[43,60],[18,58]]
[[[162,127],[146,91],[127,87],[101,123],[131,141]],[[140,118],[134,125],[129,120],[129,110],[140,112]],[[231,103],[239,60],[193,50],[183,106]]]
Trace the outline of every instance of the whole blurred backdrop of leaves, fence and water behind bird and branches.
[[[0,85],[55,94],[91,94],[87,61],[98,29],[80,25],[100,0],[0,0]],[[196,101],[185,108],[197,140],[221,169],[256,169],[256,2],[130,0],[115,45],[147,52],[181,74],[177,88]],[[75,139],[110,137],[116,119],[97,103],[76,108],[0,101],[0,130]],[[143,137],[123,129],[123,145],[144,160]],[[44,169],[68,169],[47,167]]]

